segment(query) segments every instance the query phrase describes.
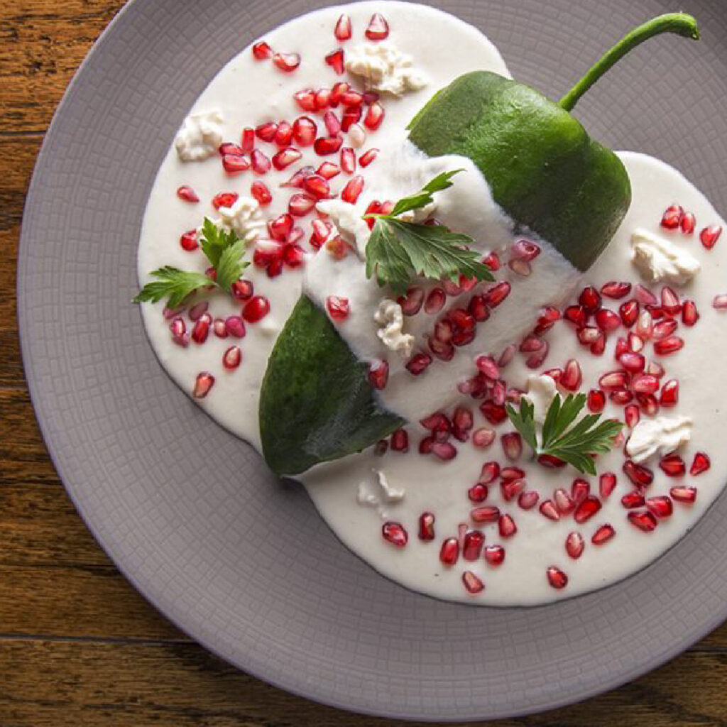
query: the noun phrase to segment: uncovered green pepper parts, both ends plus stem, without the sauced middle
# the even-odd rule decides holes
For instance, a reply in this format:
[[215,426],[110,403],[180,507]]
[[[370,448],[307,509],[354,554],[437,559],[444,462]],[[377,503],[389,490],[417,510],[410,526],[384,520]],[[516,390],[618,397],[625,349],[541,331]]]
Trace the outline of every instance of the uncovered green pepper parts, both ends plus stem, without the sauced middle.
[[[574,268],[588,270],[629,209],[631,189],[616,154],[591,139],[570,112],[619,58],[659,33],[699,38],[689,15],[656,17],[624,36],[557,103],[496,73],[467,73],[417,113],[409,140],[429,157],[472,160],[515,230],[531,231]],[[513,340],[524,333],[513,330]],[[361,451],[403,423],[383,406],[368,362],[358,360],[329,316],[303,294],[262,384],[260,435],[268,465],[296,475]]]

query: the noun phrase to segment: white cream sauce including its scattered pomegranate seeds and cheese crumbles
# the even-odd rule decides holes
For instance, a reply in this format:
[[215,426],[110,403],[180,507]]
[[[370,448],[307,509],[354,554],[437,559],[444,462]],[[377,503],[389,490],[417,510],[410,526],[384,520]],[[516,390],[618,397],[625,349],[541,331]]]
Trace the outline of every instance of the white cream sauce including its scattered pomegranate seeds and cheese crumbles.
[[[397,68],[414,84],[392,81]],[[140,281],[162,265],[204,272],[205,216],[247,236],[253,263],[234,297],[142,313],[180,387],[259,448],[260,382],[305,286],[370,362],[383,403],[410,422],[302,476],[321,515],[406,587],[478,605],[547,603],[638,578],[723,486],[723,222],[675,169],[621,153],[632,206],[579,281],[547,242],[513,238],[469,161],[426,159],[403,141],[436,89],[481,69],[508,75],[479,31],[396,2],[313,12],[245,49],[199,97],[159,169]],[[219,125],[220,150],[209,151],[214,124],[200,119]],[[396,300],[366,280],[361,214],[459,168],[427,214],[472,235],[497,282],[414,281]],[[542,419],[556,390],[587,393],[588,410],[626,423],[597,477],[534,462],[505,416],[527,391]]]

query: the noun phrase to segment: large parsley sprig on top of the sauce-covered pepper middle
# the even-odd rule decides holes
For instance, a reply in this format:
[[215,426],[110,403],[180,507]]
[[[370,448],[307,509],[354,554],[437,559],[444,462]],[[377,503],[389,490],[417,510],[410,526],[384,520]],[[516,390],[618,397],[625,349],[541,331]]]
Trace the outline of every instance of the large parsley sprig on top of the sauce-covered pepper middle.
[[389,214],[366,214],[375,219],[374,229],[366,245],[366,277],[376,275],[379,286],[389,285],[396,294],[403,294],[414,276],[431,280],[459,276],[494,281],[489,268],[480,262],[480,254],[467,246],[473,238],[453,233],[444,225],[419,225],[398,219],[404,212],[431,204],[433,194],[451,187],[451,177],[461,172],[443,172],[421,191],[401,198]]

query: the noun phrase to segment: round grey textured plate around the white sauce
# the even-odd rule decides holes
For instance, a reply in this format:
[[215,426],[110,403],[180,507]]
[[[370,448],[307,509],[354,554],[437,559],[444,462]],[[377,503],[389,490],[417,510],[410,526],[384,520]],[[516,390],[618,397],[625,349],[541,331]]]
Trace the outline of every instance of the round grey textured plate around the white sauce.
[[[60,475],[134,585],[241,669],[311,699],[468,720],[583,699],[674,656],[727,616],[727,499],[664,558],[543,608],[440,603],[337,542],[166,377],[137,307],[145,199],[198,92],[249,41],[315,0],[134,0],[52,124],[25,209],[23,358]],[[560,95],[667,0],[441,0],[483,28],[516,78]],[[661,156],[727,209],[727,15],[691,0],[701,44],[651,41],[578,113],[616,148]]]

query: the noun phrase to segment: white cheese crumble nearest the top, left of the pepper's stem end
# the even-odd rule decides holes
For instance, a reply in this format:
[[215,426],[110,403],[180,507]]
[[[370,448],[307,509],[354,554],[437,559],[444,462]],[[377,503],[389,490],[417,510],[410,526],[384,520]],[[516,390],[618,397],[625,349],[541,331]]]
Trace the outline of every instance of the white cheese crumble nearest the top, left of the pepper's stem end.
[[390,43],[366,43],[346,52],[346,70],[361,76],[366,89],[401,96],[419,91],[429,81],[414,68],[410,55]]

